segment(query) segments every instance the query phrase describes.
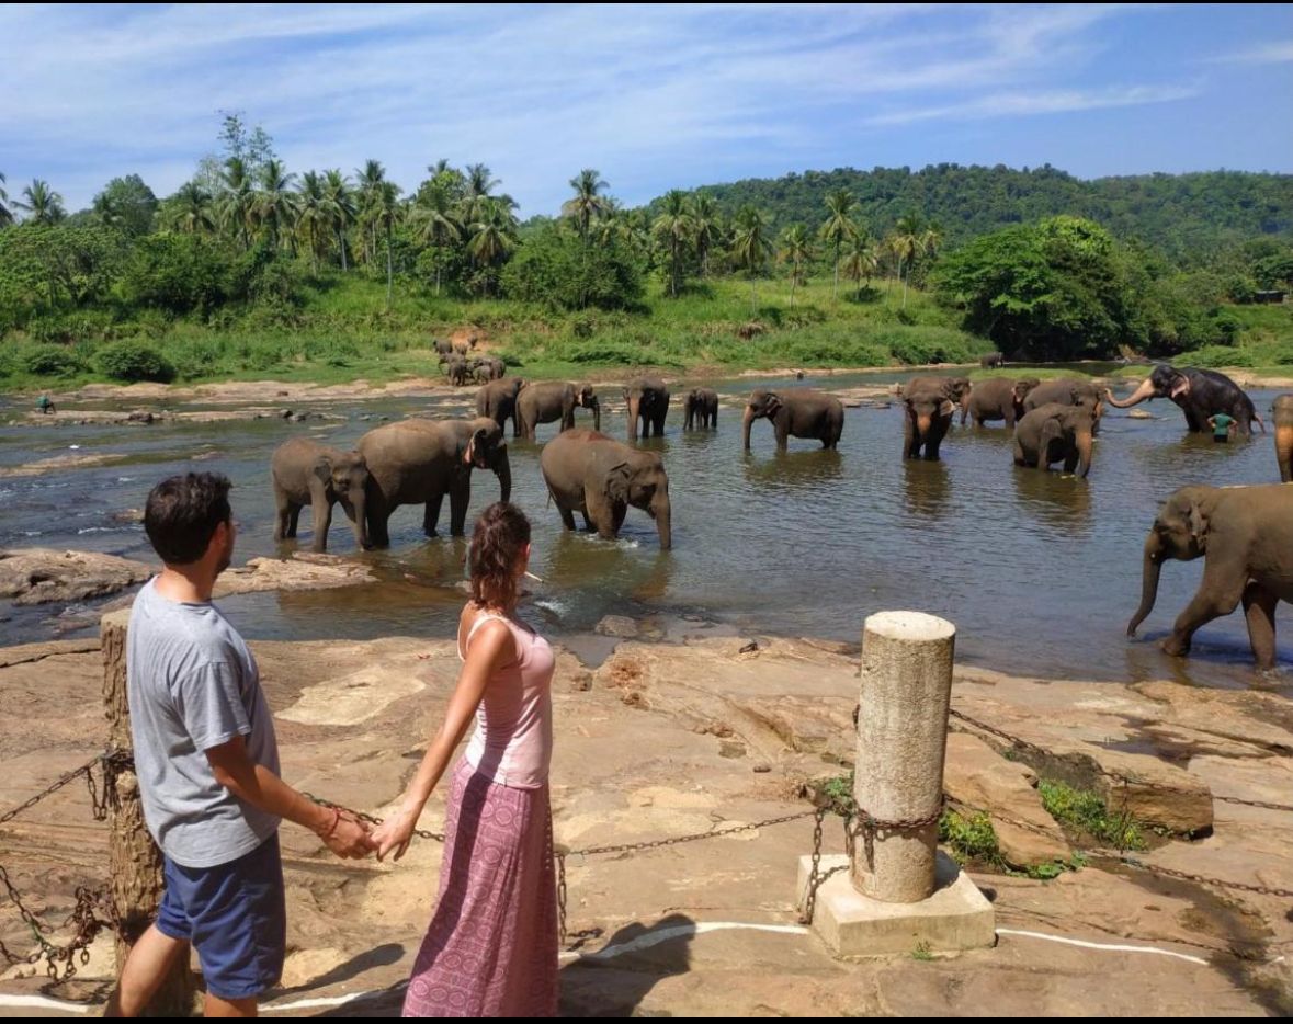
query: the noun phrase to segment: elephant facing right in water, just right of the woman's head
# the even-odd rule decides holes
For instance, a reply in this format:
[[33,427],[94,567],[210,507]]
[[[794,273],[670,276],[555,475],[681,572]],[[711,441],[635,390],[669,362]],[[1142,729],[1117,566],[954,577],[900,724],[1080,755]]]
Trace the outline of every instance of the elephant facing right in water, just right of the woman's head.
[[596,431],[564,431],[543,446],[539,468],[568,530],[575,528],[578,511],[588,529],[613,540],[632,506],[656,520],[661,551],[672,547],[668,475],[659,453],[630,447]]

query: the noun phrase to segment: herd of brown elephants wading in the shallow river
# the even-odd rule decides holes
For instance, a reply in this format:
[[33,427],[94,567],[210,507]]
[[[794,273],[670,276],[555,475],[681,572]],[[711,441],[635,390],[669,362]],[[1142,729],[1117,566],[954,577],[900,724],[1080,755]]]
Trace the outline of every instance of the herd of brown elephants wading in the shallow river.
[[[961,407],[962,425],[1005,421],[1014,429],[1018,465],[1046,469],[1063,463],[1065,472],[1086,477],[1093,441],[1106,402],[1127,409],[1166,397],[1186,414],[1191,431],[1208,429],[1208,420],[1226,412],[1243,434],[1252,424],[1266,429],[1252,400],[1239,385],[1209,370],[1177,370],[1161,365],[1126,400],[1089,381],[1040,381],[993,378],[971,387],[966,378],[917,376],[900,389],[904,406],[904,456],[937,459],[953,414]],[[670,392],[659,378],[641,376],[623,387],[627,441],[661,436]],[[684,396],[684,429],[716,428],[718,394],[696,388]],[[592,412],[593,428],[577,429],[574,412]],[[599,537],[618,535],[630,507],[648,513],[656,524],[661,549],[672,544],[668,475],[656,451],[614,441],[600,433],[601,409],[593,388],[564,381],[525,383],[517,379],[486,381],[476,398],[475,419],[410,418],[363,434],[353,451],[340,451],[306,438],[283,443],[272,459],[277,506],[274,539],[296,537],[304,506],[313,513],[313,547],[323,551],[332,506],[340,503],[350,518],[356,543],[362,548],[390,543],[388,521],[402,504],[422,504],[423,530],[436,535],[443,498],[450,502],[450,533],[465,526],[471,475],[489,469],[499,481],[499,496],[509,500],[511,465],[506,424],[513,437],[535,440],[540,423],[560,421],[560,433],[548,441],[539,468],[561,522],[575,529],[579,512],[584,528]],[[756,389],[742,416],[742,447],[750,449],[756,419],[768,419],[778,451],[790,437],[812,438],[825,449],[837,447],[843,432],[843,403],[812,388]],[[1280,478],[1293,481],[1293,394],[1274,405],[1276,458]],[[1275,665],[1275,606],[1293,603],[1293,487],[1187,486],[1164,504],[1144,544],[1140,606],[1127,635],[1153,608],[1159,575],[1168,559],[1205,557],[1202,583],[1164,640],[1168,653],[1184,654],[1193,632],[1206,622],[1230,614],[1243,603],[1258,667]]]

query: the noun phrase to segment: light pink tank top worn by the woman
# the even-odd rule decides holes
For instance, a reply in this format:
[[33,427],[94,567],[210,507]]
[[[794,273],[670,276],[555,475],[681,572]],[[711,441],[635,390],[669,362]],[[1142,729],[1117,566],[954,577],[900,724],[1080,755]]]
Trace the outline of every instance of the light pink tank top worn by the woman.
[[481,774],[512,789],[538,789],[548,781],[552,763],[552,646],[537,632],[491,612],[481,612],[458,657],[465,661],[476,631],[498,619],[511,631],[520,658],[499,668],[485,687],[476,709],[476,732],[467,743],[467,763]]

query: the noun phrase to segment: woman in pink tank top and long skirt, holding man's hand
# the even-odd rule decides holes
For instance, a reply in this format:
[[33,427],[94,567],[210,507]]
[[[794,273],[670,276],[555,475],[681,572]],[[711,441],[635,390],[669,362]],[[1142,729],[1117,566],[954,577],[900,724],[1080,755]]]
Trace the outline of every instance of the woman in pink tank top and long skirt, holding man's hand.
[[463,670],[400,809],[372,833],[403,856],[472,716],[445,811],[440,896],[405,1016],[555,1016],[557,913],[548,764],[552,648],[516,618],[530,524],[498,502],[476,521],[472,600],[458,622]]

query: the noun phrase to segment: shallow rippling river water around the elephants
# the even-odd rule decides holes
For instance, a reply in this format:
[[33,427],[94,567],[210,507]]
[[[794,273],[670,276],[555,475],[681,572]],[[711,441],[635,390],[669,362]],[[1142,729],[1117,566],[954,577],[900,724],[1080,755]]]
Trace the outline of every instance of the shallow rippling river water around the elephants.
[[[834,376],[804,384],[831,389],[888,383],[903,375]],[[714,383],[714,381],[710,381]],[[534,522],[533,618],[555,634],[587,632],[603,615],[705,617],[745,632],[816,635],[857,641],[871,612],[914,608],[952,619],[957,653],[1012,674],[1135,680],[1175,677],[1204,685],[1293,684],[1293,630],[1280,609],[1284,670],[1262,680],[1252,670],[1241,613],[1199,632],[1191,658],[1162,656],[1161,637],[1193,593],[1202,561],[1164,568],[1159,604],[1127,641],[1124,628],[1139,600],[1140,547],[1159,503],[1184,484],[1258,484],[1277,478],[1270,437],[1214,445],[1191,437],[1166,401],[1140,406],[1155,419],[1109,410],[1086,481],[1011,464],[1002,428],[953,428],[939,463],[900,458],[903,420],[891,409],[848,409],[839,451],[791,440],[775,451],[772,427],[754,425],[753,453],[741,451],[734,403],[751,379],[716,381],[724,406],[716,432],[681,431],[675,397],[666,436],[641,442],[661,451],[670,473],[674,549],[658,549],[654,524],[630,509],[615,543],[566,534],[546,507],[539,446],[511,441],[513,500]],[[777,381],[785,383],[785,381]],[[680,385],[675,392],[680,390]],[[1250,392],[1266,415],[1275,392]],[[110,516],[140,508],[162,477],[217,469],[235,485],[238,561],[272,555],[273,499],[268,464],[284,440],[309,434],[349,447],[378,416],[443,411],[450,400],[353,401],[305,406],[344,421],[281,419],[149,427],[0,428],[0,465],[58,455],[120,454],[122,463],[0,477],[0,546],[69,547],[151,559],[142,529]],[[103,403],[85,403],[102,409]],[[197,407],[197,406],[193,406]],[[225,406],[228,407],[228,406]],[[0,403],[0,419],[13,415]],[[625,432],[619,402],[604,401],[603,428]],[[370,419],[361,419],[369,416]],[[584,425],[583,415],[579,424]],[[539,441],[556,424],[540,428]],[[71,446],[79,446],[75,451]],[[498,496],[477,473],[472,515]],[[442,528],[447,528],[447,503]],[[301,517],[308,543],[309,512]],[[463,540],[428,540],[422,509],[392,518],[389,551],[354,553],[336,511],[330,551],[374,564],[383,583],[347,591],[247,595],[222,603],[253,637],[446,635],[462,604]],[[75,609],[74,609],[75,610]],[[5,643],[45,639],[59,609],[5,609]]]

